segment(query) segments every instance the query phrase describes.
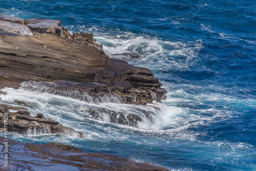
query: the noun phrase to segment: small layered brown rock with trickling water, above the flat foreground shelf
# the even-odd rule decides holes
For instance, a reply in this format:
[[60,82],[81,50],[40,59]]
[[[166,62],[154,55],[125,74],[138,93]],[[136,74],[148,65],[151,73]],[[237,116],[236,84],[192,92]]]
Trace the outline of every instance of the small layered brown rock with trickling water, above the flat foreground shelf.
[[[10,112],[10,110],[14,110]],[[17,111],[17,112],[15,112]],[[37,114],[30,116],[29,111],[23,107],[14,107],[0,103],[0,130],[4,130],[5,114],[8,116],[8,131],[26,135],[37,134],[65,134],[75,137],[83,137],[83,133],[77,132],[69,127],[64,127],[50,118]]]

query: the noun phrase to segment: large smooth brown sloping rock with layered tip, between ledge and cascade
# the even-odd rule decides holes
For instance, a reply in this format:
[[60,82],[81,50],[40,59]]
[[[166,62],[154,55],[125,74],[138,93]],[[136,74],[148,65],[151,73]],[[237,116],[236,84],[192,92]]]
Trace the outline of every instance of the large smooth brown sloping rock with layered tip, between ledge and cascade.
[[[111,59],[102,50],[74,40],[54,35],[0,36],[0,42],[3,85],[15,88],[19,83],[33,80],[25,83],[24,89],[33,91],[34,88],[29,88],[31,83],[40,85],[39,92],[66,97],[73,96],[67,94],[70,91],[75,93],[74,97],[83,93],[95,97],[111,95],[123,103],[142,105],[160,101],[166,93],[150,70]],[[51,82],[58,80],[66,82]],[[46,89],[40,89],[42,83]]]

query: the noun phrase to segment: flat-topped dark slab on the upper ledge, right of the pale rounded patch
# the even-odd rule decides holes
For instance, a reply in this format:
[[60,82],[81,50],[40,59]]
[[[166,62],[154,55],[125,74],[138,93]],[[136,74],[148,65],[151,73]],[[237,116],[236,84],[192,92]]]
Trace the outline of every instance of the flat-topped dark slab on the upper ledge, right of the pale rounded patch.
[[63,31],[60,26],[61,20],[32,18],[24,20],[24,24],[29,27],[33,35],[53,34],[63,36]]

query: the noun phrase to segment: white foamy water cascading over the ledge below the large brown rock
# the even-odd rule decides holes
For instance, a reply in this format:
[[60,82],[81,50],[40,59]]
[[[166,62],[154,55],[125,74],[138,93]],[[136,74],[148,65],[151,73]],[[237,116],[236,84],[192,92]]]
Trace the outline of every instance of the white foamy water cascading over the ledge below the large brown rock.
[[[31,115],[43,113],[46,117],[59,121],[63,126],[73,126],[76,131],[82,132],[87,132],[84,128],[84,122],[94,121],[99,124],[112,124],[125,127],[125,129],[135,129],[136,131],[154,131],[154,134],[157,134],[164,126],[177,125],[179,119],[174,119],[174,117],[184,113],[181,108],[166,106],[156,101],[146,106],[118,103],[94,104],[47,93],[11,88],[5,88],[3,91],[7,92],[7,95],[2,96],[1,102],[14,104],[15,100],[22,100],[30,105],[33,101],[35,108],[30,109]],[[98,111],[99,117],[93,117],[88,112],[89,109]],[[112,123],[110,114],[113,112],[117,114],[117,119],[123,114],[127,118],[129,115],[136,116],[141,118],[141,121],[138,122],[137,127]],[[166,134],[165,131],[162,131],[162,133]]]

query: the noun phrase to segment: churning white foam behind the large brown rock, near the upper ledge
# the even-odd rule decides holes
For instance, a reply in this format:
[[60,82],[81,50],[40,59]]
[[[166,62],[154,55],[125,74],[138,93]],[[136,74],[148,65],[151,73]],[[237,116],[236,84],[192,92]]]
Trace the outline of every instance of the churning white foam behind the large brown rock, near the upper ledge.
[[[73,28],[71,28],[73,29]],[[169,70],[170,68],[189,69],[203,48],[201,39],[195,42],[169,41],[147,35],[138,35],[128,31],[105,30],[104,28],[79,26],[80,32],[91,32],[103,45],[104,52],[111,58],[127,60],[135,66],[151,70]],[[140,56],[131,60],[131,55]]]

